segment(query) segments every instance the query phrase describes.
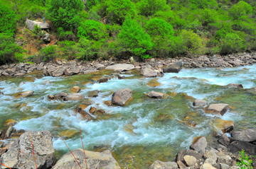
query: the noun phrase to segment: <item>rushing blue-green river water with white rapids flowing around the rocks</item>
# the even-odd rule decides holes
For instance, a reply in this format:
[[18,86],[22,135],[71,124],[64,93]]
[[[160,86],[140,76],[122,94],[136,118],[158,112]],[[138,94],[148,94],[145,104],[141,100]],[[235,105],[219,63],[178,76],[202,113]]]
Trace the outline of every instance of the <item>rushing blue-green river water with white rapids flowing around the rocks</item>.
[[[0,129],[6,120],[18,123],[15,129],[50,130],[56,155],[66,153],[63,131],[71,134],[65,142],[71,150],[82,148],[79,128],[85,149],[103,151],[111,149],[114,158],[125,167],[149,168],[155,160],[174,161],[176,153],[188,148],[195,136],[206,136],[213,144],[213,121],[233,120],[235,129],[256,126],[256,95],[249,90],[255,87],[256,65],[226,69],[182,69],[178,74],[164,74],[158,78],[160,86],[148,85],[153,78],[139,76],[137,71],[122,74],[118,79],[110,71],[97,74],[50,77],[28,75],[19,78],[1,78]],[[105,83],[87,83],[92,78],[111,76]],[[228,88],[228,83],[241,83],[245,89]],[[97,120],[82,120],[74,112],[83,101],[48,100],[48,95],[70,93],[70,88],[80,86],[80,93],[87,96],[98,90],[96,98],[90,98],[90,107],[105,110],[105,115]],[[124,107],[107,106],[103,102],[111,100],[112,93],[122,88],[131,88],[133,100]],[[27,98],[15,99],[13,94],[34,91]],[[169,95],[165,99],[147,98],[145,93],[159,91]],[[186,94],[185,94],[186,93]],[[228,103],[230,110],[224,116],[206,114],[202,108],[193,107],[191,99],[205,99],[208,103]],[[88,97],[87,97],[88,98]],[[196,127],[183,122],[191,117]],[[64,134],[65,135],[65,134]]]

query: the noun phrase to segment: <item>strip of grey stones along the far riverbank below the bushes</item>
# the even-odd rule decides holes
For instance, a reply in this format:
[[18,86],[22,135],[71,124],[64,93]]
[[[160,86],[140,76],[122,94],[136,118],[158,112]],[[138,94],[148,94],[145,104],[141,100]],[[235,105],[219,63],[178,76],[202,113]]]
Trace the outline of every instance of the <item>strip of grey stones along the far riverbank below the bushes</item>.
[[[56,60],[55,62],[41,62],[40,64],[9,64],[0,66],[0,76],[23,76],[25,74],[30,74],[33,71],[44,71],[44,75],[46,76],[88,74],[93,71],[105,69],[112,64],[134,64],[135,69],[142,69],[144,66],[150,65],[161,72],[164,67],[177,61],[182,61],[183,66],[187,68],[246,66],[256,63],[256,52],[229,54],[226,56],[213,55],[178,57],[173,59],[149,59],[145,60],[145,62],[135,62],[133,59],[119,61],[112,59],[110,61],[93,62],[66,62]],[[55,71],[54,74],[53,71]]]

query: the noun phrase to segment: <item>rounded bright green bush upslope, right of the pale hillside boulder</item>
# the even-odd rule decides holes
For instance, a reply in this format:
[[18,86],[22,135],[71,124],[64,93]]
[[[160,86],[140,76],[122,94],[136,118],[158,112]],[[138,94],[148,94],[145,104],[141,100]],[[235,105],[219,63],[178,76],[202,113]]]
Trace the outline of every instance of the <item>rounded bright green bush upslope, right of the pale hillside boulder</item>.
[[86,20],[78,28],[78,37],[85,37],[88,40],[101,40],[107,37],[103,23]]

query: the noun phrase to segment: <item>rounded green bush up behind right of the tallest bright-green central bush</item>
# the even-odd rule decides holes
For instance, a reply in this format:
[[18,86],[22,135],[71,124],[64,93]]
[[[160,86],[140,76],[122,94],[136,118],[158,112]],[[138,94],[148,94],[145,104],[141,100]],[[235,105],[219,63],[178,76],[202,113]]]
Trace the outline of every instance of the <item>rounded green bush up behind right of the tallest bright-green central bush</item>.
[[151,19],[145,25],[145,29],[151,37],[160,36],[169,38],[174,35],[174,29],[172,28],[172,26],[166,21],[159,18]]

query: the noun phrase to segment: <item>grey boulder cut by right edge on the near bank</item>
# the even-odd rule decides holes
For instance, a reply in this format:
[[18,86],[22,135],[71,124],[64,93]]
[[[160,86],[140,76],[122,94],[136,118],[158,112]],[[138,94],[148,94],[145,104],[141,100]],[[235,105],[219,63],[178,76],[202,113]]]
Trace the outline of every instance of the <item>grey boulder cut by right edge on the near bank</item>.
[[238,141],[256,141],[256,130],[254,129],[245,129],[243,131],[235,131],[231,134],[233,139]]

